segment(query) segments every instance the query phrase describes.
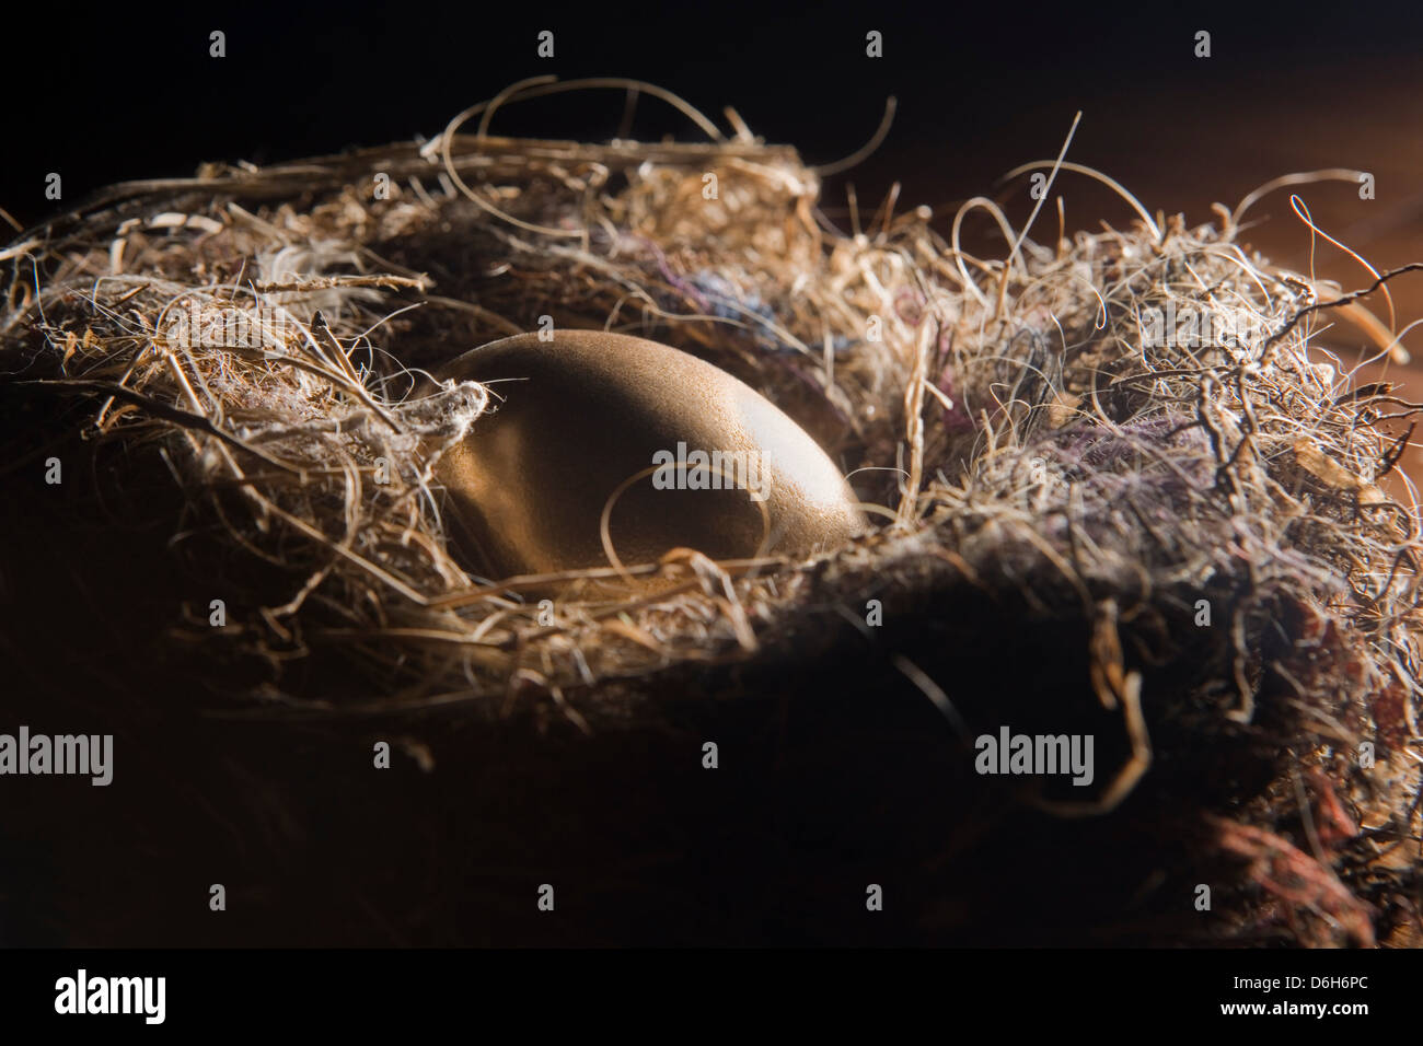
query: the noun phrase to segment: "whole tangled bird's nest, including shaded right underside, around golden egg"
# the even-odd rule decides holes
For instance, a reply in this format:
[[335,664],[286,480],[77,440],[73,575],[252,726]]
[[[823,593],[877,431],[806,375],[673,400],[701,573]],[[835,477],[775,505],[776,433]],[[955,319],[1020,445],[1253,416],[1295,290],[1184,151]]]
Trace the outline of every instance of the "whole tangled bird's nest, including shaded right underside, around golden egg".
[[[858,734],[919,768],[919,821],[857,837],[912,868],[909,939],[1417,941],[1419,532],[1380,480],[1419,406],[1312,342],[1355,296],[1252,255],[1224,208],[1187,228],[1131,201],[1130,229],[1040,243],[986,199],[949,235],[891,199],[847,235],[818,174],[744,130],[509,139],[491,107],[461,132],[480,112],[115,186],[0,250],[9,472],[90,455],[154,491],[155,555],[216,601],[189,585],[152,632],[186,702],[400,723],[430,770],[433,717],[626,751],[757,736],[794,700],[821,724],[800,754]],[[999,258],[959,242],[973,211]],[[655,595],[472,576],[433,467],[490,396],[428,374],[541,317],[748,381],[874,531],[814,562],[635,568]],[[43,495],[11,494],[13,525]],[[916,712],[884,722],[894,700]],[[975,774],[1005,724],[1094,733],[1090,794]]]

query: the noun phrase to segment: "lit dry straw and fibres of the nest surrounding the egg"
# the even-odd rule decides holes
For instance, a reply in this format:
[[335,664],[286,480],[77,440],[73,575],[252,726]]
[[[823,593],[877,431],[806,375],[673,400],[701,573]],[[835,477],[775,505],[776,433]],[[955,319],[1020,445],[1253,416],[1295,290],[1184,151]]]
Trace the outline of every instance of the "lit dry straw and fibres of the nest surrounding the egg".
[[[572,87],[666,98],[710,141],[491,134],[502,104]],[[218,679],[252,707],[536,704],[596,733],[679,666],[814,656],[807,622],[862,622],[868,598],[887,615],[990,601],[1079,628],[1130,740],[1091,801],[1044,805],[1110,814],[1168,743],[1249,731],[1268,697],[1278,784],[1202,813],[1242,888],[1308,944],[1416,921],[1419,531],[1380,481],[1420,406],[1312,344],[1359,303],[1249,253],[1254,199],[1188,228],[1121,189],[1133,228],[1042,242],[1046,216],[1016,229],[986,198],[948,235],[891,198],[847,235],[818,174],[729,117],[724,137],[650,85],[529,81],[433,141],[115,186],[0,250],[7,380],[81,397],[90,438],[162,450],[182,525],[221,528],[236,593],[225,628],[196,608],[178,633],[245,669]],[[961,246],[975,211],[1002,258]],[[1171,313],[1211,336],[1153,326]],[[470,576],[431,467],[491,398],[428,371],[541,316],[751,381],[879,505],[875,532],[815,564],[635,568],[676,582],[655,596],[586,572],[552,608],[521,595],[548,579]],[[243,595],[245,565],[268,588]],[[340,686],[289,685],[303,660],[344,666]],[[896,663],[968,730],[965,680]],[[1153,737],[1153,714],[1190,730]],[[1294,845],[1279,825],[1301,815]]]

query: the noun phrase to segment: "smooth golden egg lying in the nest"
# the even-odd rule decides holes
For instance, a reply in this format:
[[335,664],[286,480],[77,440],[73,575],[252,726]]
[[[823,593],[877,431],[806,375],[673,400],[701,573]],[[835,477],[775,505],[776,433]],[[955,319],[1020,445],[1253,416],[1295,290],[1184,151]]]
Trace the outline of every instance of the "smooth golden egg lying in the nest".
[[865,527],[805,430],[731,374],[657,342],[519,334],[437,377],[480,381],[495,404],[435,467],[455,551],[485,576],[647,564],[673,548],[807,559]]

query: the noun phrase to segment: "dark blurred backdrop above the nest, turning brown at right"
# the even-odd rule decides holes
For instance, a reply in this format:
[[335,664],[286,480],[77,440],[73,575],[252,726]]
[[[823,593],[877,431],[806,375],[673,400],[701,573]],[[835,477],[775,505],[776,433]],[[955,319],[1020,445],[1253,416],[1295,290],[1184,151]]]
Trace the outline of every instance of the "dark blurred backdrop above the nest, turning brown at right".
[[[646,80],[721,127],[731,105],[811,164],[858,149],[895,95],[881,149],[827,181],[824,211],[844,228],[851,186],[868,221],[895,181],[899,208],[933,205],[943,223],[975,195],[1000,199],[1022,222],[1026,182],[998,179],[1054,157],[1081,110],[1069,159],[1113,175],[1148,209],[1204,222],[1212,202],[1234,205],[1281,174],[1365,169],[1377,178],[1375,201],[1350,184],[1299,189],[1315,221],[1379,269],[1423,256],[1417,4],[238,4],[83,14],[33,4],[7,19],[0,208],[24,225],[54,208],[43,195],[51,171],[73,205],[115,181],[191,175],[203,161],[270,164],[433,137],[514,81],[555,74]],[[221,60],[208,56],[213,28],[226,33]],[[544,28],[555,34],[552,60],[536,57]],[[884,58],[865,57],[871,28],[884,34]],[[1205,60],[1194,57],[1202,28]],[[606,139],[622,117],[620,91],[591,91],[509,105],[491,130]],[[700,135],[649,97],[632,134]],[[1069,232],[1131,222],[1126,204],[1089,179],[1063,175],[1054,194],[1066,198]],[[1248,246],[1308,269],[1308,229],[1288,192],[1251,218]],[[1042,222],[1035,233],[1050,239],[1052,208]],[[970,246],[976,232],[990,233],[982,212],[968,225]],[[1335,248],[1316,248],[1319,276],[1345,289],[1369,282]],[[1400,329],[1423,315],[1423,275],[1393,293]],[[1405,344],[1423,354],[1417,332]],[[1362,346],[1350,332],[1329,347]],[[1420,376],[1409,371],[1413,384]]]

